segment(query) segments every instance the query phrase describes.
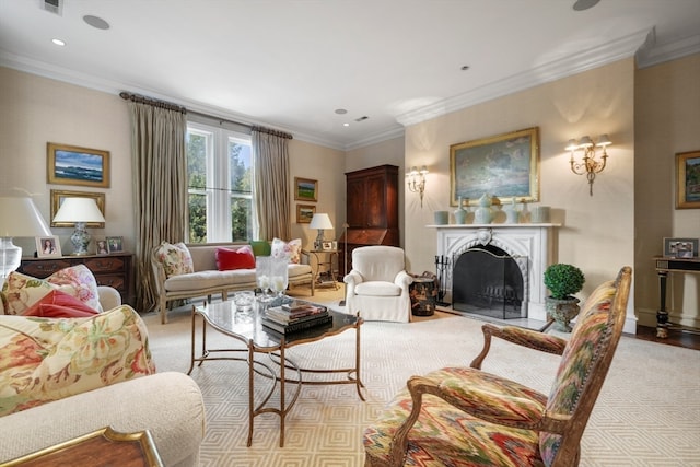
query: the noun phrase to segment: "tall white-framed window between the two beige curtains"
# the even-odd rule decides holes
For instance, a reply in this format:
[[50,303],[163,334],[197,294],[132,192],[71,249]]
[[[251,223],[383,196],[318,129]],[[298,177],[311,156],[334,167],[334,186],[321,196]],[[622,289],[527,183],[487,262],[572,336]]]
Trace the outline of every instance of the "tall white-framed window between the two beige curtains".
[[187,179],[189,243],[254,238],[248,135],[189,122]]

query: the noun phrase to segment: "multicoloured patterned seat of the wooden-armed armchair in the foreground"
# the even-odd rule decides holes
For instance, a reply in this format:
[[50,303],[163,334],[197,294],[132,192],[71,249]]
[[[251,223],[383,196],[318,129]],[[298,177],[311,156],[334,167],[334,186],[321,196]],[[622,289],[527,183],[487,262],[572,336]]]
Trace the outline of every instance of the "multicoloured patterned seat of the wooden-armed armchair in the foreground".
[[[514,401],[535,399],[538,407],[503,408],[503,412],[525,413],[529,410],[533,412],[529,418],[537,418],[537,409],[541,413],[547,402],[545,395],[526,386],[468,367],[442,369],[425,377],[441,382],[456,377],[464,386],[479,387],[483,393],[508,394]],[[364,447],[373,459],[388,462],[389,443],[411,407],[410,393],[404,388],[384,409],[382,418],[365,430]],[[536,431],[489,423],[430,395],[423,396],[421,415],[410,433],[407,466],[542,466]]]

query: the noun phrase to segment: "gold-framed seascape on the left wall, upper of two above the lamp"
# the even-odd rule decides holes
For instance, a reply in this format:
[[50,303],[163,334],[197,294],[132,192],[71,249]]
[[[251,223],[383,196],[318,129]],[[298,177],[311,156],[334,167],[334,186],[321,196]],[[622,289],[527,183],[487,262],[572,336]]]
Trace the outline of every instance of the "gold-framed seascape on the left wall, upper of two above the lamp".
[[109,151],[46,144],[46,182],[109,188]]

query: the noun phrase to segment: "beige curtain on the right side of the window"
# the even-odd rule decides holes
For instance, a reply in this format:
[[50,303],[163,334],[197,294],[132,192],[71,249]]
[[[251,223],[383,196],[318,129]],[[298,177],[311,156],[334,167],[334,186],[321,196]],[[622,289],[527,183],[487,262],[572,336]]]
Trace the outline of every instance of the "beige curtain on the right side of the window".
[[292,136],[260,127],[253,127],[250,136],[259,240],[290,240],[292,217],[287,140]]

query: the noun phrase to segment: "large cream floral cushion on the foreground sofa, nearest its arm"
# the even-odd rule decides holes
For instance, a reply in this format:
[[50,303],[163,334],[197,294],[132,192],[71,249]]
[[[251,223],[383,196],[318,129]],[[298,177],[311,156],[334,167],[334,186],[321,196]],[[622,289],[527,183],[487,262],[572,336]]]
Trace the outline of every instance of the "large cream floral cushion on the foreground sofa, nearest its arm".
[[85,318],[0,316],[0,416],[155,373],[128,305]]

